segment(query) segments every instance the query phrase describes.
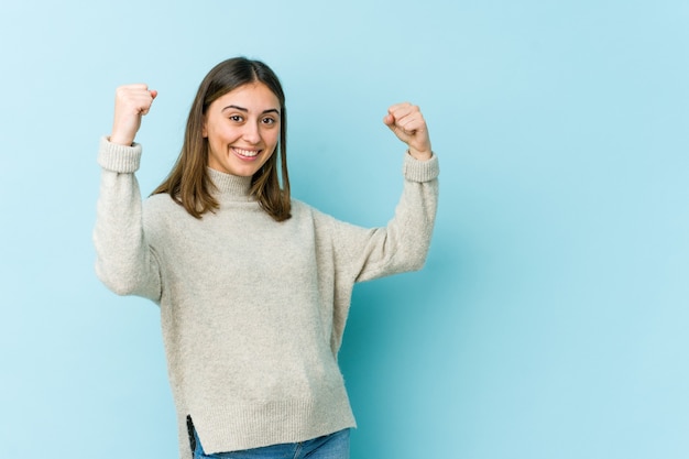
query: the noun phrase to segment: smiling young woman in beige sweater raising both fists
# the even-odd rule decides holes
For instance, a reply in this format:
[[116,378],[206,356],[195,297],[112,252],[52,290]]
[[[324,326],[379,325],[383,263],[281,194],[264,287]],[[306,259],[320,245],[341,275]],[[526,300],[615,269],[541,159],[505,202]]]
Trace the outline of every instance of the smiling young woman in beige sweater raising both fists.
[[117,89],[96,272],[160,305],[181,457],[348,458],[337,354],[353,284],[420,269],[430,243],[438,162],[420,111],[383,119],[407,145],[404,188],[389,225],[365,229],[291,198],[283,89],[241,57],[203,80],[177,163],[142,203],[134,136],[155,97]]

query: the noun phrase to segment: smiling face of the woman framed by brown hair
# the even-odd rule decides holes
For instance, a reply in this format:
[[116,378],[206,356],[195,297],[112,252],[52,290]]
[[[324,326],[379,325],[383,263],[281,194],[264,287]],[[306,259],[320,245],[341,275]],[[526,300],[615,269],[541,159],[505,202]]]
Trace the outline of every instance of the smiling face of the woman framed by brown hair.
[[280,139],[280,100],[263,83],[240,86],[206,111],[208,167],[252,176],[275,152]]

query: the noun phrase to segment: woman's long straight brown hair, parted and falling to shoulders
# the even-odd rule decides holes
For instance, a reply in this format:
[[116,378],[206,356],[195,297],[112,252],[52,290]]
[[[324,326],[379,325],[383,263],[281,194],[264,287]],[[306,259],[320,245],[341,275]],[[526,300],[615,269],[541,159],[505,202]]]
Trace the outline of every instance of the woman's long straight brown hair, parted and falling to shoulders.
[[277,97],[281,122],[280,140],[275,149],[277,151],[251,177],[250,193],[275,221],[284,221],[291,217],[285,94],[280,79],[267,65],[245,57],[223,61],[206,75],[189,110],[179,157],[152,195],[168,194],[187,212],[199,219],[204,214],[219,208],[212,196],[215,186],[207,171],[208,139],[203,135],[206,111],[216,99],[240,86],[256,81],[263,83]]

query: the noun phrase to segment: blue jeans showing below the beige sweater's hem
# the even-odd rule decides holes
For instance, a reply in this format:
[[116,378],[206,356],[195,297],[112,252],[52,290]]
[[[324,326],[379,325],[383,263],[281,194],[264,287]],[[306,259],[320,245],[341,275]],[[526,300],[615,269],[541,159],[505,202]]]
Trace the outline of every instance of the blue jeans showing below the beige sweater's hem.
[[297,444],[271,445],[243,451],[206,455],[194,430],[194,459],[349,459],[349,429]]

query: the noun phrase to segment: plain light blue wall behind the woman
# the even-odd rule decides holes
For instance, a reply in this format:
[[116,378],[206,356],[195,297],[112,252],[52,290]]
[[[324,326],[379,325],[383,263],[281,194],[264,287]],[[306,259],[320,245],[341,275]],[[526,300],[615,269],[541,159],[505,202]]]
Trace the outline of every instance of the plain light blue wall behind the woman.
[[157,308],[94,274],[96,152],[116,86],[157,89],[150,193],[241,54],[285,86],[296,197],[384,225],[394,102],[441,160],[426,267],[354,291],[352,458],[689,457],[687,24],[679,0],[3,1],[0,455],[176,457]]

